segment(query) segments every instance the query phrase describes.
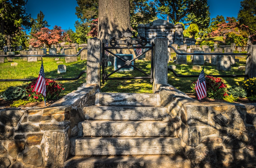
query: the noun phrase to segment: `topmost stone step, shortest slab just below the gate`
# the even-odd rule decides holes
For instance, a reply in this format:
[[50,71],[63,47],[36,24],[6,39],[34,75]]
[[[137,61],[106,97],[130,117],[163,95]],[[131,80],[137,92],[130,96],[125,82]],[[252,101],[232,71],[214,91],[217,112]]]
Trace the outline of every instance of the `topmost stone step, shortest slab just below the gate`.
[[96,93],[96,106],[160,106],[159,94]]

